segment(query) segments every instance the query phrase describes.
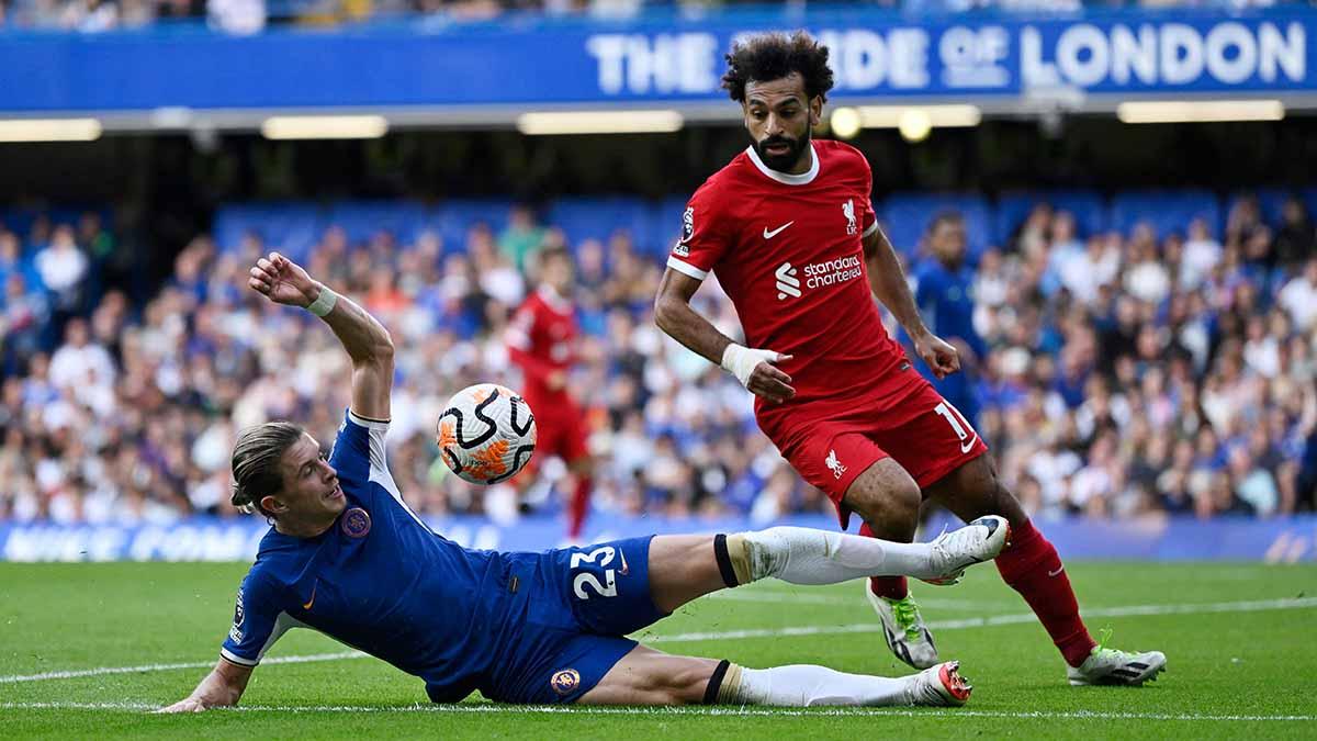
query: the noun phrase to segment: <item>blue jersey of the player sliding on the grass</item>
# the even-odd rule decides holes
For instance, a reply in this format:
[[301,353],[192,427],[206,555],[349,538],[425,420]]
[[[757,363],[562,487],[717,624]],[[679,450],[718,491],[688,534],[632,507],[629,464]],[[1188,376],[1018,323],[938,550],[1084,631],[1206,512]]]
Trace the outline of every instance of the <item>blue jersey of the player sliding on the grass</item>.
[[313,538],[273,527],[242,580],[221,655],[255,666],[290,628],[313,628],[425,679],[432,696],[481,688],[527,612],[516,556],[425,526],[385,460],[387,422],[348,411],[329,464],[346,508]]

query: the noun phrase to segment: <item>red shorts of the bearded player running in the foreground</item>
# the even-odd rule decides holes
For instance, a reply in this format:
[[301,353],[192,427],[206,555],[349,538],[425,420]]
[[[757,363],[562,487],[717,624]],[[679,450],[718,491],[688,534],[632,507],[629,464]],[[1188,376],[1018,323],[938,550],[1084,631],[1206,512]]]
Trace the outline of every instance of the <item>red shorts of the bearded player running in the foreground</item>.
[[892,458],[925,488],[988,452],[979,432],[931,384],[917,385],[900,407],[902,413],[893,414],[857,400],[844,414],[813,421],[802,407],[764,432],[801,477],[827,493],[844,530],[851,510],[842,497],[878,460]]

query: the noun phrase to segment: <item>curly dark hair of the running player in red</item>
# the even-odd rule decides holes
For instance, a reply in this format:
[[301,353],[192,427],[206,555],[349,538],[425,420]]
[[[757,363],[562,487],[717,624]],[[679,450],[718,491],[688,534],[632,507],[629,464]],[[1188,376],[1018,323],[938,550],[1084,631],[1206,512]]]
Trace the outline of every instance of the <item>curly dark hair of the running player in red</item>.
[[727,54],[723,87],[732,100],[744,103],[745,83],[769,82],[799,73],[805,79],[805,95],[811,100],[817,95],[826,103],[827,91],[832,90],[832,69],[827,66],[827,46],[822,46],[803,30],[792,36],[782,33],[753,36],[732,45],[731,53]]

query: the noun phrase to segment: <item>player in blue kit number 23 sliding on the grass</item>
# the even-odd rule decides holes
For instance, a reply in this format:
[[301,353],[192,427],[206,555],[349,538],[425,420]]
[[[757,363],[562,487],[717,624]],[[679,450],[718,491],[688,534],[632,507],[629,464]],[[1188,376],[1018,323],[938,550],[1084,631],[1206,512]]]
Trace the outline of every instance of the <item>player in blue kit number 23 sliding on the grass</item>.
[[832,584],[876,575],[954,583],[1009,537],[986,517],[930,543],[805,527],[653,535],[545,552],[464,548],[407,506],[389,473],[394,345],[346,297],[278,253],[249,287],[320,316],[352,357],[352,397],[333,452],[290,422],[244,430],[233,502],[271,523],[242,580],[220,659],[166,712],[236,705],[253,668],[290,628],[312,628],[425,682],[437,703],[479,690],[506,703],[669,705],[959,705],[957,662],[900,678],[822,666],[747,668],[676,657],[628,633],[681,605],[765,578]]

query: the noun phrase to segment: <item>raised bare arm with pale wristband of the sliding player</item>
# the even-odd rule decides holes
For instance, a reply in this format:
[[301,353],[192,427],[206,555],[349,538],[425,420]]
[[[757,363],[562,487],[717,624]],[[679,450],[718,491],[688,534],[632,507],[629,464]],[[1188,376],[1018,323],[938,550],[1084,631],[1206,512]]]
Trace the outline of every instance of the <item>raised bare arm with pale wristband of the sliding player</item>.
[[352,357],[352,411],[369,419],[389,419],[394,341],[383,324],[278,252],[257,260],[248,286],[275,303],[298,306],[324,319]]

